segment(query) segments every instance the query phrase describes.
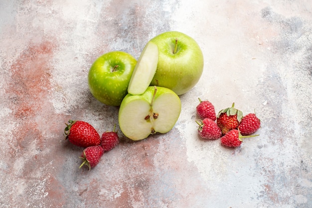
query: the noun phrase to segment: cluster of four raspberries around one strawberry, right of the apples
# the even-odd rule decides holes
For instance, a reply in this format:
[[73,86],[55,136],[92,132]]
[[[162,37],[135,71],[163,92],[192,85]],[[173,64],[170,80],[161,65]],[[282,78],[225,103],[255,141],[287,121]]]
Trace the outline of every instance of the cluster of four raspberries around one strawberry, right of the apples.
[[211,102],[198,99],[196,113],[200,119],[196,120],[196,123],[199,125],[198,134],[202,138],[210,140],[221,138],[223,146],[238,147],[242,144],[243,138],[259,136],[252,135],[261,125],[256,114],[249,113],[243,116],[242,111],[234,108],[234,103],[216,114]]

